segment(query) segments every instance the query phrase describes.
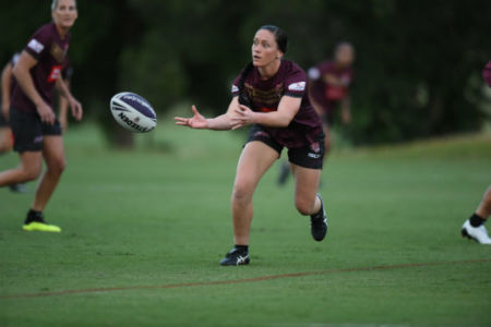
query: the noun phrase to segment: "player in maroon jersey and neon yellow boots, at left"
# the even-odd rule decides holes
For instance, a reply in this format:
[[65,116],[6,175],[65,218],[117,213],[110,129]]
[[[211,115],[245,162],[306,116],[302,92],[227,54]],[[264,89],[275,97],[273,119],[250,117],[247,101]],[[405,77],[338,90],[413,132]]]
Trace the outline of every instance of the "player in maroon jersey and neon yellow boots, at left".
[[55,86],[68,99],[73,117],[82,119],[82,106],[59,78],[70,45],[70,28],[77,19],[75,0],[53,0],[51,16],[53,22],[33,35],[13,70],[17,85],[9,118],[21,164],[0,173],[0,186],[26,182],[35,180],[41,173],[43,159],[46,162],[46,172],[23,226],[27,231],[61,231],[43,218],[65,167],[60,122],[52,110]]

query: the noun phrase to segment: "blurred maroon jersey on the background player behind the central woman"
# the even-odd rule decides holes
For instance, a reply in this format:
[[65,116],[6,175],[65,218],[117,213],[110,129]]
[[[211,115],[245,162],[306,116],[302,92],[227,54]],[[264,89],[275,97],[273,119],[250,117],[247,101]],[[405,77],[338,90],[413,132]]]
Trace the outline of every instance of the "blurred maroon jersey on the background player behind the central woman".
[[[332,74],[343,81],[342,86],[330,85],[323,81],[323,76]],[[338,69],[334,61],[324,61],[309,70],[309,78],[311,80],[310,97],[312,100],[321,105],[324,110],[331,111],[336,102],[343,100],[349,90],[352,82],[352,69]]]

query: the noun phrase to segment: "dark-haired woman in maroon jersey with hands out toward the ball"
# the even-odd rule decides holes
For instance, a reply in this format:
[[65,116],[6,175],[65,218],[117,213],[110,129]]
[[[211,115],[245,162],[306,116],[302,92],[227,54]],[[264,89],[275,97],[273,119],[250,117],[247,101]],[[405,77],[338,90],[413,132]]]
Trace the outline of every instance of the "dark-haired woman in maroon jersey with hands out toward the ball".
[[193,106],[192,118],[176,117],[176,124],[192,129],[225,131],[252,125],[231,196],[235,246],[221,259],[224,266],[249,264],[252,195],[284,147],[295,175],[298,211],[310,216],[315,241],[322,241],[327,232],[327,217],[316,194],[324,153],[322,122],[310,106],[306,73],[283,59],[287,43],[280,28],[262,26],[252,43],[252,62],[232,85],[227,112],[205,119]]

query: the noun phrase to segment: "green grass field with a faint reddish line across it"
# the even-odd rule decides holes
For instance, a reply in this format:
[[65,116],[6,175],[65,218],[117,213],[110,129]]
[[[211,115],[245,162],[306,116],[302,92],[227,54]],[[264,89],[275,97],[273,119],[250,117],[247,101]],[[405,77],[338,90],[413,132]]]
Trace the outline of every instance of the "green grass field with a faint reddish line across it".
[[338,149],[322,243],[274,167],[239,268],[218,261],[243,135],[151,137],[166,150],[108,150],[93,126],[67,135],[46,210],[60,234],[21,231],[34,184],[0,190],[0,326],[491,326],[491,246],[459,237],[491,183],[490,134]]

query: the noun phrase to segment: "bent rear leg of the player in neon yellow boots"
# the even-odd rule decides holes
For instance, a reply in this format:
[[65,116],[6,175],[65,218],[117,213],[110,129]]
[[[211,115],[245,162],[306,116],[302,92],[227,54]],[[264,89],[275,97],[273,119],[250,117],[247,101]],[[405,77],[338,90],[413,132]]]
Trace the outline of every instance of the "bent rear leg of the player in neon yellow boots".
[[21,165],[17,168],[0,172],[0,187],[28,182],[39,177],[43,169],[40,152],[26,152],[20,155]]

